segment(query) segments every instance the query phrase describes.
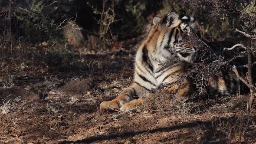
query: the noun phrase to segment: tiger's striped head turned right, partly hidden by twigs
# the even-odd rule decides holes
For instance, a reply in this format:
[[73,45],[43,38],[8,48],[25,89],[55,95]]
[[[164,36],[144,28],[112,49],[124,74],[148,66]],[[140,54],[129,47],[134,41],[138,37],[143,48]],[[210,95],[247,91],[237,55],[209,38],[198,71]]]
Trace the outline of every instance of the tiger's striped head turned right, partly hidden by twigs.
[[153,24],[163,36],[158,40],[160,50],[167,50],[171,55],[176,54],[181,61],[193,61],[196,49],[186,43],[186,39],[194,33],[193,30],[197,26],[197,21],[193,17],[178,15],[171,11],[162,18],[155,16]]

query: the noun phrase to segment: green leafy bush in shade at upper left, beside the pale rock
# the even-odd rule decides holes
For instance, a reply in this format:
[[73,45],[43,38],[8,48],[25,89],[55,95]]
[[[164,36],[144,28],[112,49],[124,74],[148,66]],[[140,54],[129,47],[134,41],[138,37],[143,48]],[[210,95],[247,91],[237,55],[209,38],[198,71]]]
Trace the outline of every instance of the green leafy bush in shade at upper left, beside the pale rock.
[[46,0],[33,0],[29,9],[21,9],[22,13],[15,12],[14,19],[20,23],[19,36],[24,36],[23,41],[29,43],[42,43],[44,41],[61,41],[62,31],[52,14],[58,7],[44,7]]

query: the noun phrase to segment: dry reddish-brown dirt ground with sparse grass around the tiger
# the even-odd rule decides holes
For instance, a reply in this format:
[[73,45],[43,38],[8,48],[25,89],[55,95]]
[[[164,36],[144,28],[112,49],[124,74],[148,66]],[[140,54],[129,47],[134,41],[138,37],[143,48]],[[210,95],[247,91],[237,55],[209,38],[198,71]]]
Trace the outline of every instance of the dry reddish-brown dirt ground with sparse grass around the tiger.
[[219,111],[238,96],[185,102],[154,94],[134,111],[99,111],[101,101],[115,98],[131,83],[135,51],[83,54],[79,66],[64,70],[10,69],[2,63],[0,143],[256,142],[255,108],[248,111],[245,104]]

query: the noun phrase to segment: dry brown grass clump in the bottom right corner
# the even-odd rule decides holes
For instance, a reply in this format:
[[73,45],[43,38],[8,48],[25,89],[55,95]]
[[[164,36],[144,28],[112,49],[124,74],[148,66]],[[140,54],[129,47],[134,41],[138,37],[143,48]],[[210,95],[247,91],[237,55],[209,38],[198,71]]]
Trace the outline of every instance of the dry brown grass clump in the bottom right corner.
[[218,117],[213,121],[212,129],[207,130],[206,133],[209,134],[208,142],[241,144],[248,141],[247,137],[256,134],[255,128],[254,116],[240,113],[228,119]]

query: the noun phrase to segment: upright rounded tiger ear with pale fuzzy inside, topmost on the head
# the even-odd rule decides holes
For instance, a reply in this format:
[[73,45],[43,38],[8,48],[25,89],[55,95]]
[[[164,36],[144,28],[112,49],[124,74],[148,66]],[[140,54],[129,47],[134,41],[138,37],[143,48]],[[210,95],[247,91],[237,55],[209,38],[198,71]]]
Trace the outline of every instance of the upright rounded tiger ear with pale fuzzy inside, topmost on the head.
[[164,17],[164,21],[166,22],[166,26],[177,26],[178,24],[181,23],[181,20],[179,20],[179,15],[174,12],[171,11],[169,12],[165,17]]

